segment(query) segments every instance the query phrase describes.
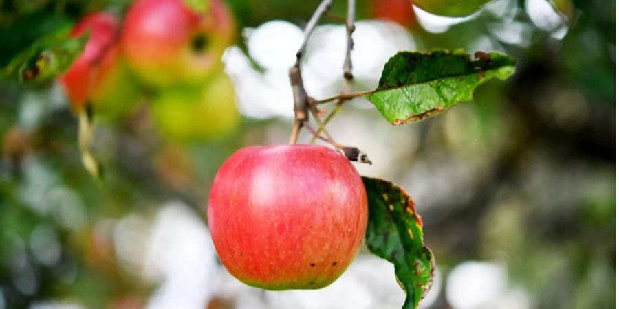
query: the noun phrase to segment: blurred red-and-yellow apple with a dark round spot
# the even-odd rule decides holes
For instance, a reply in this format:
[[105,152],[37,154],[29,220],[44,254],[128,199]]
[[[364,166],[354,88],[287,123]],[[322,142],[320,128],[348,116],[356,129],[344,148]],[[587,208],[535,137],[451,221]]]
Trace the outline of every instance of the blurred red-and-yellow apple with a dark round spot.
[[221,0],[199,14],[182,0],[138,0],[122,30],[122,50],[143,82],[155,87],[199,84],[221,71],[221,55],[234,38],[232,14]]

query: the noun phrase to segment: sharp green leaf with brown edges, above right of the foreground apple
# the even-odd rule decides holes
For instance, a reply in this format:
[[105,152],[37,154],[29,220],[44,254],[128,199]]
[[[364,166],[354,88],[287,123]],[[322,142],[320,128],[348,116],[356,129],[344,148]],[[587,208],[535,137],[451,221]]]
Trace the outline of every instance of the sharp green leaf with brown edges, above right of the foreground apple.
[[378,88],[365,95],[391,124],[408,124],[473,100],[473,90],[496,77],[505,80],[516,62],[498,52],[398,52],[382,69]]

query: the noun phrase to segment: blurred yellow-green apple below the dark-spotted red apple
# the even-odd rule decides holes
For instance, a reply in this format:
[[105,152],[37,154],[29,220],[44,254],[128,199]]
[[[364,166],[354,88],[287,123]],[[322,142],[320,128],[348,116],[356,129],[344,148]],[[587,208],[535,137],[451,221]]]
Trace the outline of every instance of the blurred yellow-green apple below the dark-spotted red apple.
[[177,87],[155,95],[151,111],[155,125],[168,139],[197,141],[232,133],[241,116],[230,78],[219,72],[203,87]]

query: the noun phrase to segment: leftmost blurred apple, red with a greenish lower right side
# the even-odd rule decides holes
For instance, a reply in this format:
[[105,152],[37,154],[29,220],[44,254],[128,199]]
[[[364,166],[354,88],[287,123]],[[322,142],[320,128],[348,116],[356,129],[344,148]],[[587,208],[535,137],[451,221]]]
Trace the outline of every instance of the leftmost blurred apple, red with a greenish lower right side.
[[140,100],[140,89],[120,57],[118,19],[106,12],[85,16],[70,32],[89,35],[83,53],[60,78],[74,109],[91,102],[97,115],[116,118]]

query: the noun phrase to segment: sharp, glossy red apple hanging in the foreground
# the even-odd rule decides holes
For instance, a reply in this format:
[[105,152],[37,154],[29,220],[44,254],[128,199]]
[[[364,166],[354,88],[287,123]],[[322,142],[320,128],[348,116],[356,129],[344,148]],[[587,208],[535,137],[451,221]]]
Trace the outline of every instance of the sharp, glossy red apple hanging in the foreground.
[[366,225],[361,177],[325,146],[238,150],[221,165],[208,198],[221,263],[267,290],[328,286],[354,260]]

